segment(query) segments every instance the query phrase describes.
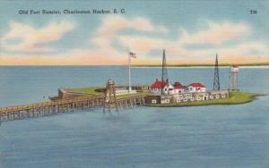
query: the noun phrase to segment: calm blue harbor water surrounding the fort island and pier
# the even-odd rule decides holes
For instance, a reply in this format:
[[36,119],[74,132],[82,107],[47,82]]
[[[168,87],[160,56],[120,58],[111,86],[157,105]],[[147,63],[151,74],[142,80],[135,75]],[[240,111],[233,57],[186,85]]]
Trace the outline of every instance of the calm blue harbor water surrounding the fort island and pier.
[[[159,68],[135,68],[134,85]],[[221,88],[228,69],[221,68]],[[243,90],[269,93],[269,68],[242,68]],[[0,67],[0,106],[41,102],[57,88],[127,84],[125,66]],[[213,68],[172,68],[169,79],[213,86]],[[45,97],[44,97],[45,96]],[[0,126],[0,168],[9,167],[269,167],[269,97],[245,105],[100,109]]]

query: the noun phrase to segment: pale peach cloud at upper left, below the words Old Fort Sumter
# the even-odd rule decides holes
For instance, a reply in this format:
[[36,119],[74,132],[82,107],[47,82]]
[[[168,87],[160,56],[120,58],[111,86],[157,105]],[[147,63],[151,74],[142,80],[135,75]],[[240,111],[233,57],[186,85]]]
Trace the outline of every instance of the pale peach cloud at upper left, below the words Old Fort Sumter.
[[37,29],[21,22],[10,21],[9,27],[9,31],[0,39],[4,49],[19,52],[51,52],[54,48],[41,45],[59,40],[75,26],[70,21],[54,21]]

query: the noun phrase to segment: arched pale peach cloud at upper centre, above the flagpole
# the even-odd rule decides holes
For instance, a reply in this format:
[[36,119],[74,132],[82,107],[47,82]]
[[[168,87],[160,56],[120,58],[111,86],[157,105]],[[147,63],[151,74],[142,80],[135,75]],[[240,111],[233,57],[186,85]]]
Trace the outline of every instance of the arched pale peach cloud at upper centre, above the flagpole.
[[110,46],[113,39],[117,37],[117,32],[124,29],[134,29],[143,32],[169,32],[169,29],[166,27],[162,25],[155,26],[151,21],[143,17],[127,19],[122,16],[108,16],[102,21],[100,29],[97,29],[94,33],[91,42],[98,46]]

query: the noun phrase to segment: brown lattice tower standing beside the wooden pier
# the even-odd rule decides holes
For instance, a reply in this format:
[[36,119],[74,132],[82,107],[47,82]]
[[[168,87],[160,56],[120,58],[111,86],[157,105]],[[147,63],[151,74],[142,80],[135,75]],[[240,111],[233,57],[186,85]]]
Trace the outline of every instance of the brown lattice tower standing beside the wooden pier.
[[116,108],[117,110],[116,88],[115,88],[114,80],[107,81],[103,113],[106,113],[107,109],[108,109],[108,112],[110,113],[111,108]]

